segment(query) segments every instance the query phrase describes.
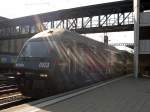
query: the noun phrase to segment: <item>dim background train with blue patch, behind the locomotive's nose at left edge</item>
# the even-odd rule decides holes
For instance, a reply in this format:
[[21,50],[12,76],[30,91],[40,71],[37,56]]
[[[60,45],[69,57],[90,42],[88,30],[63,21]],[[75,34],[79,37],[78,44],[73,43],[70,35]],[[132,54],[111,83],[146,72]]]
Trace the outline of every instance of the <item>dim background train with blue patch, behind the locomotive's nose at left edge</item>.
[[0,72],[13,73],[15,61],[27,38],[0,40]]

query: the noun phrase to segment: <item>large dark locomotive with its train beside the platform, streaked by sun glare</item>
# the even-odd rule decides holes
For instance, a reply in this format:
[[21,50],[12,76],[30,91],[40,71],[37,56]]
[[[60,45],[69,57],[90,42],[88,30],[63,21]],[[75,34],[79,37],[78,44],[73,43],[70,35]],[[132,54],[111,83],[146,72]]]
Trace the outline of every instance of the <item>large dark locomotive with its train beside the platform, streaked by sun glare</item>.
[[65,29],[29,38],[16,63],[23,95],[42,98],[133,72],[133,54]]

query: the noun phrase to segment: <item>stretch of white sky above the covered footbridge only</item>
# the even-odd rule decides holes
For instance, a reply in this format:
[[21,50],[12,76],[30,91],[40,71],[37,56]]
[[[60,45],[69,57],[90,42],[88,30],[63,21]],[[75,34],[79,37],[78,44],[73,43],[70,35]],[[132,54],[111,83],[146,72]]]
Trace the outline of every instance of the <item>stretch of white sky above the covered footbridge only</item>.
[[43,12],[113,1],[119,0],[1,0],[0,16],[17,18]]

